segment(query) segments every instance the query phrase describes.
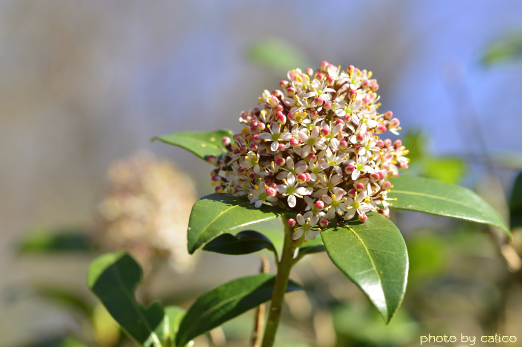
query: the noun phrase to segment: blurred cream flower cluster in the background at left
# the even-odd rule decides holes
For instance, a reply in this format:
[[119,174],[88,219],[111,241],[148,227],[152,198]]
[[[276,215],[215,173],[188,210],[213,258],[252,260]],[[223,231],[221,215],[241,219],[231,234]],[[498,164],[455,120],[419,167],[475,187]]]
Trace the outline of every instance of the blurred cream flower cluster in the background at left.
[[195,260],[186,249],[188,216],[196,201],[192,180],[170,162],[140,152],[109,168],[109,187],[98,205],[99,243],[125,249],[150,272],[157,256],[178,272]]

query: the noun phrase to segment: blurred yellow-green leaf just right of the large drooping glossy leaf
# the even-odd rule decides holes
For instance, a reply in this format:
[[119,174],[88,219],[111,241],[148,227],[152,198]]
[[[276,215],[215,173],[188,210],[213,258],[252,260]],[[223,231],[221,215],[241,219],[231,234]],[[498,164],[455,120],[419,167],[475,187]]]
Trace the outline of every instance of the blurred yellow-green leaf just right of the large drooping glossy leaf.
[[414,282],[440,274],[448,265],[448,250],[437,234],[415,235],[407,242],[410,259],[409,280]]

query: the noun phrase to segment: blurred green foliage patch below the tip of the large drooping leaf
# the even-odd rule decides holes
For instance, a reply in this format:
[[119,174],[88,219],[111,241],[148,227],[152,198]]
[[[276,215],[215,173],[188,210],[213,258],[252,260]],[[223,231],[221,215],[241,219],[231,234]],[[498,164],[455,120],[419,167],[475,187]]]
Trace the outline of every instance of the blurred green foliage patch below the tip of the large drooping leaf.
[[336,307],[333,318],[342,345],[406,345],[418,338],[419,325],[405,310],[399,310],[388,325],[382,324],[375,310],[361,304]]

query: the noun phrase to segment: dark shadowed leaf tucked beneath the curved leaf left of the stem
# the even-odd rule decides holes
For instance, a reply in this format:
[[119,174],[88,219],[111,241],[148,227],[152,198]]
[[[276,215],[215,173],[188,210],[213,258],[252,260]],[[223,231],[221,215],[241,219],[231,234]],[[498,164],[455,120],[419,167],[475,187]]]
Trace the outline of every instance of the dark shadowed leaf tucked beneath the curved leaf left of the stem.
[[253,230],[244,230],[235,236],[222,234],[207,243],[203,249],[221,254],[250,254],[267,248],[276,253],[276,249],[268,237]]

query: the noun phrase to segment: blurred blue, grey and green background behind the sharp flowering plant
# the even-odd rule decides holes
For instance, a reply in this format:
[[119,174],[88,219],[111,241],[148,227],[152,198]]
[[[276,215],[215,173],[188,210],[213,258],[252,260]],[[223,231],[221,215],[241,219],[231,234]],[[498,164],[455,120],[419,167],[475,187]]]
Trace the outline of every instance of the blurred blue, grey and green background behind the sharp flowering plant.
[[[392,322],[385,326],[326,254],[315,254],[292,273],[306,293],[288,294],[278,346],[414,346],[428,333],[522,331],[520,2],[452,2],[450,13],[413,1],[0,6],[0,345],[132,345],[85,285],[90,260],[112,247],[134,252],[147,268],[137,292],[144,304],[159,298],[187,307],[218,284],[256,273],[267,251],[183,258],[183,223],[164,233],[161,225],[174,222],[162,216],[212,191],[209,167],[148,140],[237,129],[235,115],[277,88],[286,70],[324,59],[373,70],[383,104],[405,129],[404,174],[477,188],[511,220],[514,237],[507,244],[487,226],[396,211],[410,273]],[[148,188],[141,179],[114,188],[108,168],[140,149],[171,163],[151,159],[161,169]],[[164,192],[173,172],[196,192],[150,193]],[[281,247],[279,221],[255,229]],[[244,346],[253,324],[249,312],[195,346]],[[517,338],[513,345],[522,345]]]

